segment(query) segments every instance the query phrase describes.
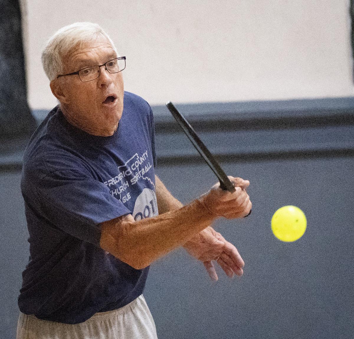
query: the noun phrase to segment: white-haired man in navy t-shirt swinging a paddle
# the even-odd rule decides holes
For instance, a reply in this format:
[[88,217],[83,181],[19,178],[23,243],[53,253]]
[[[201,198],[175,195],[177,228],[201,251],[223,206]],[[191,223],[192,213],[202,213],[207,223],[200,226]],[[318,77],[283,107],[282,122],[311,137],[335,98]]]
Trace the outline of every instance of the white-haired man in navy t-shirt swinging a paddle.
[[124,92],[119,57],[97,24],[60,29],[42,54],[59,100],[25,151],[21,189],[30,260],[18,299],[17,338],[156,338],[142,295],[149,265],[183,246],[217,279],[244,262],[210,227],[251,210],[248,181],[231,179],[190,204],[155,175],[154,121]]

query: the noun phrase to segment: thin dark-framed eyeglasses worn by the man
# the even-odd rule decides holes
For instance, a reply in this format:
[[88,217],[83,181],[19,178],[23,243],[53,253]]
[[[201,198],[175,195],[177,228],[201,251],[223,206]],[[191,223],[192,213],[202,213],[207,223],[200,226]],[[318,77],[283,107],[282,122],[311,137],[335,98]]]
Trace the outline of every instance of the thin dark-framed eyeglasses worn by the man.
[[86,68],[82,68],[76,72],[72,72],[72,73],[68,73],[68,74],[61,74],[61,75],[58,75],[57,78],[59,78],[61,76],[78,74],[79,78],[82,82],[95,80],[99,77],[99,70],[101,69],[102,66],[104,66],[105,69],[109,73],[121,72],[122,70],[125,69],[125,57],[119,57],[119,58],[109,60],[103,65],[86,67]]

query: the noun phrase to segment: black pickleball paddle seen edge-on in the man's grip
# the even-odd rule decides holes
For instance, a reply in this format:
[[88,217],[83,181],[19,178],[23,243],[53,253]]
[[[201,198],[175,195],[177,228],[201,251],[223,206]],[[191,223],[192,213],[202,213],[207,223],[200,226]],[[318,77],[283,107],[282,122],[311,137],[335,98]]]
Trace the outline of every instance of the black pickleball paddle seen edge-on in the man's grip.
[[[201,157],[209,165],[211,170],[215,173],[220,181],[220,187],[225,191],[235,192],[235,187],[230,181],[224,170],[221,168],[219,163],[215,160],[210,151],[206,148],[203,142],[200,140],[199,136],[195,133],[193,127],[185,119],[185,117],[179,113],[176,107],[169,101],[166,104],[169,111],[172,113],[173,117],[176,119],[178,124],[182,127],[184,133],[188,136],[188,139],[192,142],[193,146],[199,152]],[[251,210],[252,211],[252,210]],[[248,215],[251,214],[251,211]]]

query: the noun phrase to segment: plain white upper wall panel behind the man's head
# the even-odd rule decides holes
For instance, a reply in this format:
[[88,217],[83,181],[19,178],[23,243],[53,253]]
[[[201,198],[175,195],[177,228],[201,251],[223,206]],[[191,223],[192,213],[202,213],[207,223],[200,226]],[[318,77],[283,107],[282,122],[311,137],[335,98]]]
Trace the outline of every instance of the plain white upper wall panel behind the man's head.
[[27,14],[32,109],[57,104],[45,41],[78,21],[107,31],[127,57],[125,89],[152,105],[353,95],[348,0],[31,0]]

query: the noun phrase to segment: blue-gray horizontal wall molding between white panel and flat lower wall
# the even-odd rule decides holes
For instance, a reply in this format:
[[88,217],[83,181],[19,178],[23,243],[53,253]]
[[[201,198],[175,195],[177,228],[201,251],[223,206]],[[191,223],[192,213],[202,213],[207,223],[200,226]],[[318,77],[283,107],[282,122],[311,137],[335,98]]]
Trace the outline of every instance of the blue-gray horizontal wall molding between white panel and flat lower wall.
[[[176,104],[220,159],[353,156],[354,97]],[[165,105],[152,106],[159,165],[202,162]],[[34,110],[39,124],[50,110]],[[27,139],[0,145],[0,170],[21,170]]]

